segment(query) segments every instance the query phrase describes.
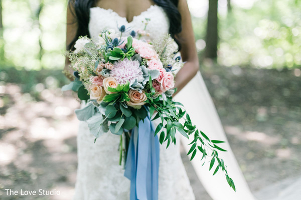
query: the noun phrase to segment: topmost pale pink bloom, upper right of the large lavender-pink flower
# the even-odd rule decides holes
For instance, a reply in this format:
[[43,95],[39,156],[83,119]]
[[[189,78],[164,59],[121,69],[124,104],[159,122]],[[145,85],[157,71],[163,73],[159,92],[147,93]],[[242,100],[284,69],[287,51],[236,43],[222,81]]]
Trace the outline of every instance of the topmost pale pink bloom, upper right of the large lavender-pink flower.
[[135,52],[140,54],[140,56],[143,58],[151,59],[157,56],[157,53],[152,48],[152,45],[144,41],[133,38],[132,46],[135,48]]

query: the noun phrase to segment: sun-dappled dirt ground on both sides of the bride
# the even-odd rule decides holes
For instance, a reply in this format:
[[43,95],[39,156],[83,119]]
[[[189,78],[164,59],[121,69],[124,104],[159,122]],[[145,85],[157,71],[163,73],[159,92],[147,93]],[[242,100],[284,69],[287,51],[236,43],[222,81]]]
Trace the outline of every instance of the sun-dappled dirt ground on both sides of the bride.
[[[301,70],[201,68],[229,143],[253,192],[301,174]],[[19,78],[21,77],[22,78]],[[71,199],[79,106],[58,71],[0,71],[0,199]],[[196,199],[211,199],[184,164]],[[59,195],[7,195],[6,189]]]

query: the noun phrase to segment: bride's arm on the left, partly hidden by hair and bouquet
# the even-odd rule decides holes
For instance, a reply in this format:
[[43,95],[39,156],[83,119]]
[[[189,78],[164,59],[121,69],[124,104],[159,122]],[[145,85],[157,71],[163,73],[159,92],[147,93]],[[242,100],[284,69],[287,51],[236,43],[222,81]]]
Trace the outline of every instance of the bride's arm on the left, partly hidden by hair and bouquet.
[[[74,17],[74,9],[71,4],[68,4],[67,7],[67,31],[66,31],[66,49],[68,49],[68,45],[69,43],[73,40],[73,38],[76,36],[76,31],[77,31],[77,20]],[[69,67],[70,65],[70,61],[69,61],[69,57],[66,56],[65,59],[65,67],[64,67],[64,73],[66,75],[66,77],[70,80],[74,79],[73,76],[73,70]]]

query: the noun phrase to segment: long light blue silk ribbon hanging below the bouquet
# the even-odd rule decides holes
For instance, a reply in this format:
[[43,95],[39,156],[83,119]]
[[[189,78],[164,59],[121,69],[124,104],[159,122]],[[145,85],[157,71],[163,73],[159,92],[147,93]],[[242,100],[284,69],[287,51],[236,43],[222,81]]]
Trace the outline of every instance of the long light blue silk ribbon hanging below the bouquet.
[[149,116],[130,136],[124,176],[130,179],[130,200],[157,200],[160,147]]

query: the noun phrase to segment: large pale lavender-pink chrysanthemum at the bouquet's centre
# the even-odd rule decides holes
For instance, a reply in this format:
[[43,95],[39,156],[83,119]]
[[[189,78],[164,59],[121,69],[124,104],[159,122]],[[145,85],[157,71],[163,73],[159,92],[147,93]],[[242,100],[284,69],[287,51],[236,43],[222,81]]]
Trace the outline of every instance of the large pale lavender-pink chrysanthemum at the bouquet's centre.
[[133,84],[135,80],[138,82],[144,80],[139,61],[128,60],[127,58],[115,62],[110,75],[113,76],[119,84],[125,84],[127,80],[130,84]]

